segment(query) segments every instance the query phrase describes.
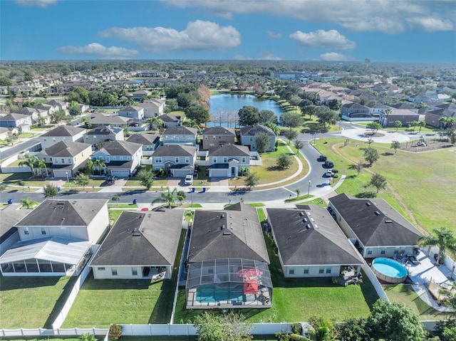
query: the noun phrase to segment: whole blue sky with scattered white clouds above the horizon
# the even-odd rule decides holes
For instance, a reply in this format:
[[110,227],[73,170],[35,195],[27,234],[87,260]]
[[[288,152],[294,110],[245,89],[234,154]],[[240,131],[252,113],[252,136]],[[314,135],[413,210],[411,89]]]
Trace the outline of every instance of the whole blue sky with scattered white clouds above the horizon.
[[454,0],[0,0],[1,60],[456,62]]

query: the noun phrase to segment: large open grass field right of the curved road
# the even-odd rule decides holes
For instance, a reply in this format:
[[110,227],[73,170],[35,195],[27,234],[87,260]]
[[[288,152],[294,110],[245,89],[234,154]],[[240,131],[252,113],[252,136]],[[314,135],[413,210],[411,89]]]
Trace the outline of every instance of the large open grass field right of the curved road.
[[[344,140],[331,139],[328,144],[318,141],[316,147],[331,159],[339,174],[347,174],[346,180],[337,189],[338,193],[353,196],[375,194],[367,187],[373,172],[382,174],[388,189],[376,195],[388,201],[400,214],[416,222],[418,227],[431,231],[447,226],[456,233],[452,197],[456,193],[456,152],[439,149],[431,152],[405,152],[395,154],[388,144],[375,144],[380,159],[373,166],[358,171],[355,164],[363,161],[363,148],[367,144],[351,141],[344,147]],[[373,193],[372,193],[373,192]]]

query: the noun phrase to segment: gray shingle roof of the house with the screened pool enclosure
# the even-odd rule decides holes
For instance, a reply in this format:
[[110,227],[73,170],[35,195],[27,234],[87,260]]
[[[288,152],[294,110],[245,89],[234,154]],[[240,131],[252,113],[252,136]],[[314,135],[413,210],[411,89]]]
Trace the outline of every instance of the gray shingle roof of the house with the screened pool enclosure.
[[224,211],[196,211],[188,256],[190,263],[214,258],[269,263],[257,210],[238,203]]

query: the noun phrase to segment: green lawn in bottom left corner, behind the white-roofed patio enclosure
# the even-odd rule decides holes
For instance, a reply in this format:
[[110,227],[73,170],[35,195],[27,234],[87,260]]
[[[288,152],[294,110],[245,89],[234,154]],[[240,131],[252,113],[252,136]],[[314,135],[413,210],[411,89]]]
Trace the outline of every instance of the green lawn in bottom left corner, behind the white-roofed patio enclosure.
[[0,276],[1,327],[51,328],[76,277]]

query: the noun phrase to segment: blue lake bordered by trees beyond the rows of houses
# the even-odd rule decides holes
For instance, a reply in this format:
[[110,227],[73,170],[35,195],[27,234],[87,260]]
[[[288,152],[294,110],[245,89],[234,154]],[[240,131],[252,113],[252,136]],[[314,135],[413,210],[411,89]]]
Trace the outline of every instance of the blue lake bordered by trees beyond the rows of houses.
[[284,112],[274,100],[262,100],[247,94],[222,93],[211,95],[209,100],[211,122],[207,122],[207,126],[237,127],[237,112],[244,105],[252,105],[260,111],[271,110],[277,115],[277,118]]

